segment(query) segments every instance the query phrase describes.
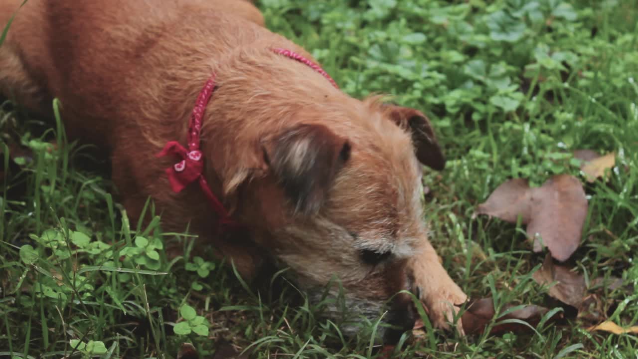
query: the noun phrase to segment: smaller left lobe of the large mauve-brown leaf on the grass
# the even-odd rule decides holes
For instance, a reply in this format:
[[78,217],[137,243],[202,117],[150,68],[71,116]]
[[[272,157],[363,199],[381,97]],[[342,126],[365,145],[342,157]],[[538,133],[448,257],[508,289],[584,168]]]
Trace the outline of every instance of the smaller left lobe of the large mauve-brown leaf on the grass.
[[477,213],[512,223],[516,223],[521,215],[523,224],[528,224],[531,216],[530,185],[523,178],[510,179],[496,187],[487,201],[479,204]]

